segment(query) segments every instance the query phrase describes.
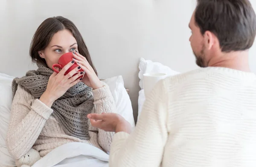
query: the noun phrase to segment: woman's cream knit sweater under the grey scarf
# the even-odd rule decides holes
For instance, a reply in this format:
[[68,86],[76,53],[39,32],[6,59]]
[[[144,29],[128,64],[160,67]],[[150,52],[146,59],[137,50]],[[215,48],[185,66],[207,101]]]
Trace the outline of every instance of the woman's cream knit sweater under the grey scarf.
[[[93,90],[93,98],[93,112],[115,112],[115,102],[107,85]],[[90,140],[66,135],[56,119],[51,116],[53,110],[35,99],[20,85],[13,99],[11,112],[6,144],[9,153],[16,159],[32,147],[43,157],[56,147],[69,142],[84,142],[106,152],[110,151],[113,132],[98,130],[90,125],[89,130],[98,131],[89,132]]]

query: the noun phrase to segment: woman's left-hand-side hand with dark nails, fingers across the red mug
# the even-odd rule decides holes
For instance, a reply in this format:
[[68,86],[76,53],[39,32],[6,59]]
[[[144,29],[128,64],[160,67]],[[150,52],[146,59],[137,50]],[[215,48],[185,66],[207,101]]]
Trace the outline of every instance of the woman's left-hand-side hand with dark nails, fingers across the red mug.
[[76,83],[79,83],[81,81],[78,78],[83,73],[79,73],[73,76],[79,70],[79,67],[73,69],[67,75],[64,75],[67,69],[73,66],[74,63],[74,61],[71,61],[66,66],[64,66],[58,74],[56,72],[53,72],[53,74],[49,77],[47,88],[39,99],[48,107],[51,107],[53,102],[60,98],[62,95],[64,95],[64,93],[67,92],[70,87],[76,85]]

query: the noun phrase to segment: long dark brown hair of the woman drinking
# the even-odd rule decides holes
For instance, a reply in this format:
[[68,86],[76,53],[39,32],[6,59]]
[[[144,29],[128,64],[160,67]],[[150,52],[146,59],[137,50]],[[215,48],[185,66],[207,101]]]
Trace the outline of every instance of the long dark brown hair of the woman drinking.
[[84,43],[84,40],[79,30],[76,28],[75,24],[72,21],[62,16],[47,18],[38,27],[30,45],[29,54],[32,58],[32,61],[35,63],[42,63],[47,66],[46,61],[39,56],[38,52],[44,50],[48,46],[48,44],[52,40],[53,35],[56,32],[64,29],[69,30],[73,34],[77,41],[79,53],[87,59],[88,63],[90,64],[90,66],[92,66],[93,70],[97,75],[97,71],[93,66],[89,51]]

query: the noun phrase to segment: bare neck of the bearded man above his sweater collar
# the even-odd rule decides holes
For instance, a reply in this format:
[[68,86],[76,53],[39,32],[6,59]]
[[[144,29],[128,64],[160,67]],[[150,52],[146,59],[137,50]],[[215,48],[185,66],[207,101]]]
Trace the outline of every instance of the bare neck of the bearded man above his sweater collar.
[[215,56],[215,58],[212,58],[209,61],[208,66],[226,67],[244,72],[251,72],[248,51],[219,53],[218,56]]

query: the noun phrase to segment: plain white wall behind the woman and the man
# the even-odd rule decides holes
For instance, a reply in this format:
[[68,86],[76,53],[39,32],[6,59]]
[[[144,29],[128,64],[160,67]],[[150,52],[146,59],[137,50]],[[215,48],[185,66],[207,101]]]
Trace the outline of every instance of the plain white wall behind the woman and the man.
[[[47,17],[62,15],[79,28],[99,77],[123,76],[137,117],[141,57],[180,72],[197,68],[188,28],[195,1],[0,0],[0,72],[21,77],[34,69],[32,35]],[[256,72],[255,54],[253,46],[250,65]]]

